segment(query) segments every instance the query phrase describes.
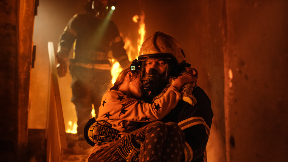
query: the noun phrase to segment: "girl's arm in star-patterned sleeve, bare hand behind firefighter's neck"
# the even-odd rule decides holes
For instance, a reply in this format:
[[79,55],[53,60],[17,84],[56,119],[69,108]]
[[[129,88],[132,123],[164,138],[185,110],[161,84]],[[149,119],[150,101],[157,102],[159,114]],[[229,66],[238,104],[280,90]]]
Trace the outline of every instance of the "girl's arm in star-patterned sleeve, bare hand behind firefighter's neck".
[[97,120],[160,120],[181,100],[179,90],[182,85],[192,82],[193,79],[195,78],[190,74],[178,77],[167,92],[153,104],[130,98],[120,91],[109,91],[103,96]]

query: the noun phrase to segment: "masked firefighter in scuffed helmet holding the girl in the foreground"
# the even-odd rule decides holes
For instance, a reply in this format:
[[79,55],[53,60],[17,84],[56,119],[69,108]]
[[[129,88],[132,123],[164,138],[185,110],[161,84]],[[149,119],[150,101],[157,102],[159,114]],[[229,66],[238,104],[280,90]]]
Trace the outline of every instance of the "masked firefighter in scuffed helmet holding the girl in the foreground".
[[[162,64],[163,62],[164,64]],[[145,96],[143,96],[143,99],[145,102],[151,102],[155,96],[162,93],[170,77],[176,77],[187,66],[190,67],[190,64],[185,61],[185,54],[178,41],[162,32],[156,32],[144,41],[139,52],[138,63],[141,67],[140,80],[144,85],[143,93]],[[196,71],[193,71],[193,74],[197,76]],[[210,99],[204,90],[195,86],[190,91],[192,91],[197,100],[196,104],[192,105],[180,100],[160,121],[177,123],[183,130],[185,145],[181,161],[203,162],[206,144],[210,135],[213,111]],[[90,127],[90,130],[94,131],[93,142],[107,143],[117,140],[115,138],[117,131],[112,129],[111,126],[95,124],[95,120],[90,120],[87,123],[87,127],[89,125],[93,126],[93,128]],[[88,130],[86,134],[88,134]],[[103,130],[107,132],[103,134]],[[92,142],[88,138],[87,141],[90,144]]]

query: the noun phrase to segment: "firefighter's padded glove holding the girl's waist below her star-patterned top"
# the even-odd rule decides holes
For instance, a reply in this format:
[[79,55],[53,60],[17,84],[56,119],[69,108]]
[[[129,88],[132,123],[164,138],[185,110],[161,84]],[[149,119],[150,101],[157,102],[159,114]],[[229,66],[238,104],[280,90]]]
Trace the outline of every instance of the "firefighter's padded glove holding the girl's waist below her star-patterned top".
[[97,145],[104,145],[118,140],[121,137],[119,131],[112,128],[107,121],[101,120],[93,123],[89,128],[89,139]]

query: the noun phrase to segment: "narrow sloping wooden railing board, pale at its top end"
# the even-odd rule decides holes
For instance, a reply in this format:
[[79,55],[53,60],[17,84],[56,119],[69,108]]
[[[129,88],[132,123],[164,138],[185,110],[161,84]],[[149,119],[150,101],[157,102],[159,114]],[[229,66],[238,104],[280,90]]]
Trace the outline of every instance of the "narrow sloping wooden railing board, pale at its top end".
[[65,124],[63,118],[62,104],[60,98],[59,84],[57,78],[56,64],[55,64],[55,53],[53,42],[48,42],[48,51],[50,58],[50,66],[52,68],[52,85],[54,87],[54,97],[56,103],[56,113],[58,120],[58,130],[59,130],[59,139],[60,139],[60,149],[68,149],[67,138],[65,132]]

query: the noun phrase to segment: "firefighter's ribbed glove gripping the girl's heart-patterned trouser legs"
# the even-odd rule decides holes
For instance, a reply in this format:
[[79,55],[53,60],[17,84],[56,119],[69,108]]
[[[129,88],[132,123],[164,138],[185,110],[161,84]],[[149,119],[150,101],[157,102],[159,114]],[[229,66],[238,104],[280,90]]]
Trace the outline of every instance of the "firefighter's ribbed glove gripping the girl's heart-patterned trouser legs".
[[139,161],[139,150],[143,142],[134,135],[127,135],[121,140],[121,146],[117,148],[117,152],[127,162]]

